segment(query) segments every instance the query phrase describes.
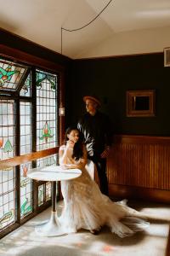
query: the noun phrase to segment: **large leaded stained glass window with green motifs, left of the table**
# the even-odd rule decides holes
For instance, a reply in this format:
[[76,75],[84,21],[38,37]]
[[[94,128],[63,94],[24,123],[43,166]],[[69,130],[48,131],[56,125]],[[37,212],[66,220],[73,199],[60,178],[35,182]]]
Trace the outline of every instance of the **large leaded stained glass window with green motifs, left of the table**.
[[[58,145],[57,78],[56,74],[0,58],[0,160]],[[36,90],[32,80],[36,81]],[[36,125],[32,124],[32,117],[36,117]],[[37,207],[51,200],[51,183],[39,182],[33,187],[26,173],[32,166],[56,165],[57,160],[58,155],[54,154],[0,170],[0,231],[33,211],[34,188]]]

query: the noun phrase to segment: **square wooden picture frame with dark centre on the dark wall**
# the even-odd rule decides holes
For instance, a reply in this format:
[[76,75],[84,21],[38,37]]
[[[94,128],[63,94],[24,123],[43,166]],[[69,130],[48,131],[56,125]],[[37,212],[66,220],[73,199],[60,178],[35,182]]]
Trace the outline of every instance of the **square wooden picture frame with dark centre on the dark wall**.
[[153,117],[155,113],[155,90],[127,90],[127,117]]

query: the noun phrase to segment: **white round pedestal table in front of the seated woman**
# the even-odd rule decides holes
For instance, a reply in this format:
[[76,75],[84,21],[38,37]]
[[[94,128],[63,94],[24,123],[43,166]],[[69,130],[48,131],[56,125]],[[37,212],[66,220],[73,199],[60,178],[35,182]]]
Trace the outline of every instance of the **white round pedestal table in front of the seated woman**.
[[56,210],[56,182],[69,180],[81,176],[79,169],[62,169],[60,166],[45,166],[30,169],[27,177],[31,179],[50,181],[52,183],[52,212],[48,223],[36,227],[36,232],[40,236],[61,236],[66,234],[59,224]]

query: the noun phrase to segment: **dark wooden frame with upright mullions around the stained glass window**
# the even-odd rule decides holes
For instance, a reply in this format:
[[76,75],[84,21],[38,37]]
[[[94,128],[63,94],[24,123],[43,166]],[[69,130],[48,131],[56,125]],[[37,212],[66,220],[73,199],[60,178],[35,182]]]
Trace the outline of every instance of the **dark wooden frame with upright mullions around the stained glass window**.
[[[3,52],[3,54],[2,54]],[[14,61],[14,62],[20,62],[20,64],[27,65],[31,67],[31,79],[32,79],[32,84],[31,86],[31,96],[20,96],[20,91],[14,91],[12,93],[8,92],[8,95],[5,93],[1,95],[2,99],[13,99],[14,100],[14,107],[16,111],[15,115],[15,134],[20,135],[20,102],[31,102],[31,130],[32,130],[32,138],[35,136],[36,133],[36,117],[37,117],[37,112],[36,112],[36,69],[40,69],[44,72],[48,73],[54,73],[57,74],[58,76],[58,96],[57,96],[57,101],[58,103],[58,110],[61,106],[64,105],[65,99],[64,99],[64,80],[65,80],[65,68],[62,66],[59,66],[58,64],[51,62],[51,61],[46,61],[43,60],[39,57],[33,56],[26,54],[25,52],[21,52],[18,49],[12,49],[9,48],[5,45],[0,44],[0,56],[3,57],[3,59],[7,61]],[[29,70],[30,71],[30,70]],[[58,113],[58,137],[59,137],[59,144],[62,142],[64,138],[64,131],[65,131],[65,116],[60,116]],[[19,136],[20,138],[20,136]],[[37,153],[37,158],[32,160],[32,167],[36,167],[36,160],[39,158],[42,158],[44,155],[41,154],[41,152],[46,151],[49,152],[47,154],[51,155],[51,151],[53,152],[54,148],[49,148],[46,150],[42,150],[39,154],[38,157],[38,152],[37,152],[37,145],[36,145],[36,139],[32,139],[32,154]],[[59,147],[57,147],[59,149]],[[56,150],[57,153],[58,150]],[[27,155],[22,155],[20,156],[20,143],[17,143],[15,145],[15,157],[14,161],[16,158],[21,158],[24,160],[24,157],[26,158]],[[2,160],[0,161],[0,167],[4,165],[4,162],[7,162],[8,160]],[[13,160],[12,160],[13,162]],[[51,205],[51,201],[45,202],[42,206],[38,207],[38,200],[37,200],[37,188],[38,184],[36,181],[32,181],[32,190],[36,193],[33,193],[33,205],[32,205],[32,212],[27,215],[25,218],[20,219],[20,166],[19,165],[14,165],[15,166],[15,174],[16,174],[16,194],[17,194],[17,211],[16,211],[16,218],[14,224],[10,224],[5,228],[1,233],[0,237],[6,236],[9,232],[12,230],[15,230],[18,228],[21,224],[26,223],[26,221],[30,218],[33,218],[36,216],[39,212],[42,212],[44,209],[49,207]]]

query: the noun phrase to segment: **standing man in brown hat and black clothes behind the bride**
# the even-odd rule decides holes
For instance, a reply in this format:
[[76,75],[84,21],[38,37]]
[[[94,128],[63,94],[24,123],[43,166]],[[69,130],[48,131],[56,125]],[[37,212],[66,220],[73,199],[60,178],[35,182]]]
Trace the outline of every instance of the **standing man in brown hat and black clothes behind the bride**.
[[82,132],[84,143],[88,151],[88,159],[96,165],[100,190],[108,195],[108,182],[106,175],[106,157],[112,143],[112,125],[105,113],[99,112],[101,102],[96,96],[84,96],[86,110],[82,119],[78,121],[78,129]]

